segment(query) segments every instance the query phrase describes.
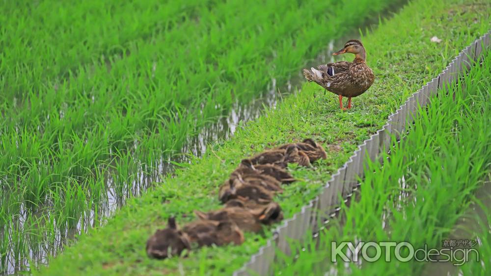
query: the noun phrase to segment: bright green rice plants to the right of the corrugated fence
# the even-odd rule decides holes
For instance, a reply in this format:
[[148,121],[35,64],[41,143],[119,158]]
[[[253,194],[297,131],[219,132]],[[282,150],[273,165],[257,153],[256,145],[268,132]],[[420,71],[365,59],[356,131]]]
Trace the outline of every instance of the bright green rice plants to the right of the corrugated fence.
[[[368,162],[370,174],[361,181],[359,200],[344,206],[333,227],[322,231],[299,258],[284,259],[275,271],[282,275],[321,275],[333,268],[340,275],[422,275],[427,262],[345,263],[331,261],[332,241],[406,241],[414,249],[442,247],[456,221],[474,199],[491,169],[491,50],[482,67],[474,67],[451,93],[432,99],[427,113],[391,149],[382,164]],[[455,100],[452,99],[455,93]],[[389,157],[389,158],[386,158]],[[489,217],[489,209],[484,208]],[[341,226],[339,226],[341,225]],[[489,275],[489,224],[482,226],[480,260],[464,266],[468,275]],[[472,234],[470,234],[472,235]],[[467,239],[481,238],[468,236]],[[317,245],[316,245],[317,244]],[[404,252],[406,256],[408,252]],[[373,255],[373,254],[372,254]],[[382,256],[385,250],[382,249]],[[419,258],[422,256],[419,255]],[[460,258],[460,255],[458,256]],[[464,274],[467,275],[467,274]]]

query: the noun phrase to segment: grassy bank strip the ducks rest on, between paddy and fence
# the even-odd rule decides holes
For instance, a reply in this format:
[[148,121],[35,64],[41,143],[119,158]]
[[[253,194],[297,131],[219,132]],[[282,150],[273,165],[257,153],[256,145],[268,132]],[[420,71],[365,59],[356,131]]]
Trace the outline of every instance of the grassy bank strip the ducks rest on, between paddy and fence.
[[[204,248],[188,258],[164,261],[146,257],[146,239],[173,215],[180,224],[192,210],[219,207],[218,186],[240,159],[279,143],[313,137],[324,143],[327,160],[316,170],[291,167],[300,179],[277,197],[285,217],[315,197],[331,173],[344,163],[355,145],[379,129],[388,114],[435,77],[461,49],[490,28],[491,5],[473,0],[415,0],[393,19],[382,22],[362,41],[376,82],[354,99],[354,109],[341,112],[337,97],[306,84],[258,120],[239,125],[229,141],[211,145],[205,156],[140,198],[132,199],[106,226],[82,234],[76,245],[55,258],[41,274],[230,274],[271,235],[246,235],[242,246]],[[411,22],[410,27],[407,22]],[[438,36],[442,43],[430,42]],[[346,56],[344,58],[351,58]]]

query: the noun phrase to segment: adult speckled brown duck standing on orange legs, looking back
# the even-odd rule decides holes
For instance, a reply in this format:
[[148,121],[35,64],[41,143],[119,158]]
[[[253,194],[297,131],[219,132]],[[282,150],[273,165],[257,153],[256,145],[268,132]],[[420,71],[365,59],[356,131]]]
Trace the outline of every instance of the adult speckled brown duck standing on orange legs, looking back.
[[359,96],[372,86],[375,79],[372,69],[366,64],[366,51],[361,41],[352,39],[343,49],[333,55],[354,53],[353,62],[340,61],[327,63],[315,68],[303,69],[303,75],[308,81],[313,81],[336,95],[339,95],[339,107],[343,107],[343,97],[348,97],[348,109],[351,108],[351,98]]

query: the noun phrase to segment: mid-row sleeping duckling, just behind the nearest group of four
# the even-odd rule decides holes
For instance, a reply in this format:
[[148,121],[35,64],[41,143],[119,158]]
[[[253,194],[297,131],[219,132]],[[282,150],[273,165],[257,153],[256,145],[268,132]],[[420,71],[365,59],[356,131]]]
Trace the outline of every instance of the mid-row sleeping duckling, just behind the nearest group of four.
[[237,178],[225,181],[218,193],[218,199],[223,203],[242,197],[248,201],[264,204],[273,201],[273,196],[273,191],[262,186],[244,184]]

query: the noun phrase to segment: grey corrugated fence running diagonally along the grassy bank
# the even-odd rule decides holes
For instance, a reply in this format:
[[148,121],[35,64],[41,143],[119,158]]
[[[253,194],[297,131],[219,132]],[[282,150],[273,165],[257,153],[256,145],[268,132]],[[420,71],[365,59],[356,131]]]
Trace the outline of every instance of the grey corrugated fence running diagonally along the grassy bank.
[[321,193],[303,206],[299,213],[284,220],[281,226],[275,229],[273,238],[266,246],[252,255],[250,261],[237,270],[234,276],[271,275],[276,248],[285,254],[290,254],[289,240],[301,242],[308,230],[315,234],[320,230],[319,226],[324,227],[322,225],[327,224],[329,218],[339,208],[339,195],[341,194],[343,199],[351,197],[358,184],[357,177],[363,178],[365,154],[368,153],[370,159],[375,160],[379,157],[379,153],[389,149],[391,136],[399,138],[418,116],[418,104],[425,106],[429,99],[437,94],[438,89],[456,82],[458,77],[474,64],[474,61],[480,60],[483,51],[490,47],[490,42],[491,31],[462,50],[440,75],[412,94],[395,113],[388,117],[382,129],[358,146],[350,159],[332,175]]

